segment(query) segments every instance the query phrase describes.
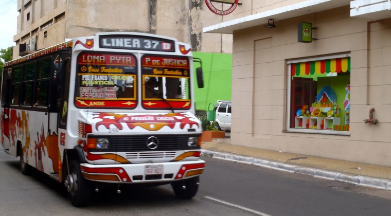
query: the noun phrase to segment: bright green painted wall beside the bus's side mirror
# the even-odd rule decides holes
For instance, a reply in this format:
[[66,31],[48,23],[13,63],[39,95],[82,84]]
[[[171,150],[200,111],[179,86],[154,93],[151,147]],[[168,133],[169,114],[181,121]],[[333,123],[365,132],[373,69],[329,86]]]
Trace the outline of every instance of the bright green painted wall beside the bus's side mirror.
[[[230,100],[232,54],[193,52],[193,57],[201,59],[204,73],[204,88],[198,88],[197,77],[194,75],[195,109],[208,110],[209,103],[215,105],[217,100]],[[199,63],[194,63],[194,68],[199,66]]]

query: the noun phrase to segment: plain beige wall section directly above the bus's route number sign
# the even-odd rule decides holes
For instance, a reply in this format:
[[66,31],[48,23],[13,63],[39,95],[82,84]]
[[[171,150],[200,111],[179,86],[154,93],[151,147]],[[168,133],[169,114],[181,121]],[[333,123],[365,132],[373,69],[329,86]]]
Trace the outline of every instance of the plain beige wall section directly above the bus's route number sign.
[[68,0],[67,2],[66,38],[93,35],[99,31],[149,31],[147,19],[149,1]]

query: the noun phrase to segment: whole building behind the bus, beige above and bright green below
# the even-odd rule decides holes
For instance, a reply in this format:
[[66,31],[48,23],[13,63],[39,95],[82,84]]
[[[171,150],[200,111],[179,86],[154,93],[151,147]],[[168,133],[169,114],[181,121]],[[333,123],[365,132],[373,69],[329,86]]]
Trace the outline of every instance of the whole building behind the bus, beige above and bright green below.
[[[222,9],[224,5],[216,7]],[[18,0],[17,10],[13,59],[95,32],[155,33],[191,44],[195,56],[207,66],[206,88],[195,92],[198,109],[206,109],[209,102],[218,99],[230,99],[232,34],[203,33],[202,28],[232,19],[233,15],[212,14],[204,1]],[[223,85],[211,84],[217,79]]]

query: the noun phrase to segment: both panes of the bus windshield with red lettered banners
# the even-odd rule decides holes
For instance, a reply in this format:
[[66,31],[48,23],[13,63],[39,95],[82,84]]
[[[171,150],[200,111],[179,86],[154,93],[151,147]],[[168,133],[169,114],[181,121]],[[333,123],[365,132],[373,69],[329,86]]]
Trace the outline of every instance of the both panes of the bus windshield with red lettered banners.
[[[88,108],[134,109],[137,92],[140,92],[144,109],[190,109],[187,57],[144,55],[140,62],[138,73],[137,58],[132,54],[81,52],[77,62],[75,104]],[[141,84],[138,90],[137,82]]]

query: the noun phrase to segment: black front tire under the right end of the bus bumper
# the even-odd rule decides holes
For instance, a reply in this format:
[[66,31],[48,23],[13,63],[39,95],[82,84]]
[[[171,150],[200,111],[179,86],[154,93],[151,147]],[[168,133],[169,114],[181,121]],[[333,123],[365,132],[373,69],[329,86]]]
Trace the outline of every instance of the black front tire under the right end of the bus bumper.
[[[176,197],[180,199],[191,199],[197,194],[199,182],[200,176],[197,176],[171,183],[171,186]],[[186,188],[184,189],[183,186]]]

